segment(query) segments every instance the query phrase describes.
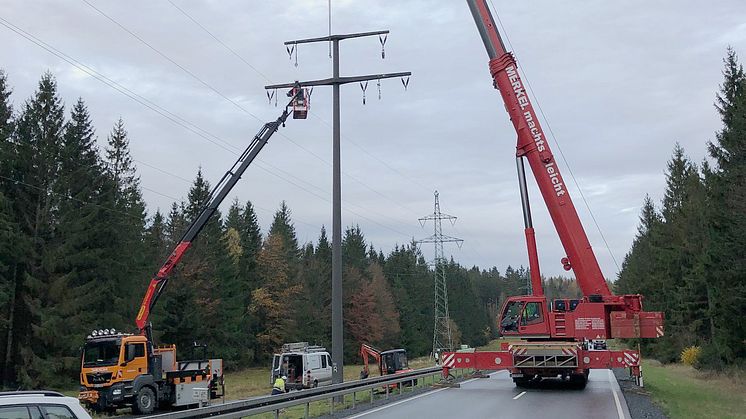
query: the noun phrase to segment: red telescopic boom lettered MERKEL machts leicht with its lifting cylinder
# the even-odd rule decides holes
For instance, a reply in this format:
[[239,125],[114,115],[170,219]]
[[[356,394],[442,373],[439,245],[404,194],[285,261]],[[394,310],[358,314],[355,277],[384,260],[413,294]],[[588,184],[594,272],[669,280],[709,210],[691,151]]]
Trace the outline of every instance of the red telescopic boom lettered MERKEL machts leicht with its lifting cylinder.
[[505,49],[492,14],[487,8],[487,2],[485,0],[467,0],[467,3],[490,58],[490,73],[494,80],[494,86],[500,91],[510,120],[518,134],[516,161],[521,183],[521,200],[533,294],[542,296],[544,293],[541,287],[536,240],[528,206],[528,192],[523,169],[524,158],[528,160],[562,246],[567,253],[567,257],[562,260],[564,268],[566,270],[572,269],[575,272],[575,277],[583,295],[609,296],[611,291],[604,280],[565,181],[560,174],[554,155],[549,149],[539,118],[531,105],[521,76],[518,74],[515,58],[512,53]]

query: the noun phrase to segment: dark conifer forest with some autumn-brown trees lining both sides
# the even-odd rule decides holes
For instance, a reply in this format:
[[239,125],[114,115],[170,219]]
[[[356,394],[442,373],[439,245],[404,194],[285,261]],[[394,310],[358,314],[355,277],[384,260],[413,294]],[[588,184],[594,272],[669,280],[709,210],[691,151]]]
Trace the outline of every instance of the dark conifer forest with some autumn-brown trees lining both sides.
[[[746,362],[746,75],[732,50],[724,61],[715,104],[722,128],[708,143],[709,158],[695,162],[673,148],[663,200],[641,197],[637,236],[618,278],[608,278],[615,292],[641,293],[647,310],[666,313],[667,334],[641,342],[645,356],[675,361],[698,345],[701,367],[712,369]],[[92,329],[134,328],[151,276],[211,186],[197,172],[167,213],[150,208],[127,121],[96,129],[83,99],[62,102],[51,73],[21,102],[11,76],[0,71],[0,387],[70,388]],[[97,136],[106,138],[103,149]],[[156,340],[176,344],[179,356],[205,343],[233,370],[268,365],[284,342],[329,347],[332,255],[324,226],[314,242],[300,243],[284,202],[266,231],[250,200],[226,208],[155,307]],[[428,355],[430,258],[414,242],[387,253],[374,245],[359,226],[344,230],[345,362],[359,362],[361,342]],[[497,337],[503,300],[526,292],[523,263],[447,263],[456,343],[477,347]],[[579,295],[568,278],[546,278],[545,290],[550,298]]]

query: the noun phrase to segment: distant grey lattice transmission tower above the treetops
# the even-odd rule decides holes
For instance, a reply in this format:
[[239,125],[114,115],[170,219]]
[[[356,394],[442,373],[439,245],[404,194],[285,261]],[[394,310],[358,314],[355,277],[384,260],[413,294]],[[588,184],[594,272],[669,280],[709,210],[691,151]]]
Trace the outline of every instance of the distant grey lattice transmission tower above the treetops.
[[433,271],[435,276],[435,326],[433,327],[433,356],[438,359],[438,354],[443,351],[453,350],[453,339],[451,337],[451,320],[448,315],[448,286],[446,282],[446,264],[443,251],[443,243],[456,243],[461,247],[464,241],[456,237],[443,235],[442,221],[448,220],[451,225],[456,223],[456,217],[440,212],[440,200],[438,191],[435,191],[435,209],[432,214],[419,219],[423,227],[428,221],[433,222],[433,235],[418,240],[417,243],[433,243],[435,247],[435,259],[433,259]]

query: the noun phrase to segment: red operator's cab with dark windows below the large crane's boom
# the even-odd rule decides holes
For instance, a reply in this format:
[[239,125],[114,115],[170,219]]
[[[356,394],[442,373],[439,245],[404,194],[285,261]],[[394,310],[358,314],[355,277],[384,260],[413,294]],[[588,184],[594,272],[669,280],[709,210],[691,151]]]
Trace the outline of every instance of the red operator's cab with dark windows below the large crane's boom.
[[510,297],[500,316],[500,334],[524,338],[549,338],[549,311],[543,297]]

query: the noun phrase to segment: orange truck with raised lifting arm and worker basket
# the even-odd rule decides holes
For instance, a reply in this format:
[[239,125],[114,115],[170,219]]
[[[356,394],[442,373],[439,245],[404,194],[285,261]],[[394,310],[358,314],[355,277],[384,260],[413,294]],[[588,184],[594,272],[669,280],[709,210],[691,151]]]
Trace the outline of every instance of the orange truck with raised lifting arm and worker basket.
[[[207,203],[192,221],[178,245],[150,281],[135,319],[136,334],[114,329],[94,330],[83,347],[80,401],[97,411],[113,412],[132,406],[135,413],[149,414],[160,404],[201,405],[225,394],[220,359],[176,360],[176,346],[155,347],[150,312],[163,293],[171,272],[199,236],[225,197],[290,116],[305,119],[308,92],[296,84],[288,93],[290,102],[275,120],[264,124],[238,160],[210,192]],[[195,347],[197,345],[195,344]],[[201,346],[205,349],[204,346]],[[206,352],[206,351],[205,351]]]

